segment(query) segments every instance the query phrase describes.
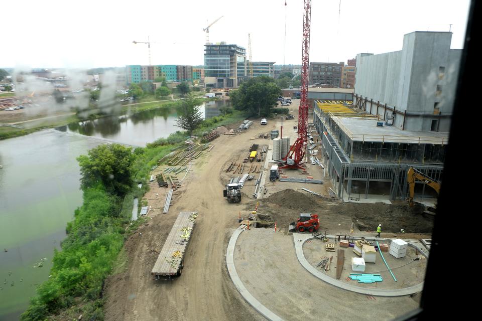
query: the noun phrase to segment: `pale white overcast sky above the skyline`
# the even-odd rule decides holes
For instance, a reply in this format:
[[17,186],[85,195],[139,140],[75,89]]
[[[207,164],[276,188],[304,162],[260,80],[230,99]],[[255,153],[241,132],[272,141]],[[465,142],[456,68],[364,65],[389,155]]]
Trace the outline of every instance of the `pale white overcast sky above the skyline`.
[[[303,0],[4,1],[0,67],[92,68],[202,65],[209,41],[248,49],[253,61],[301,64]],[[340,5],[341,3],[341,5]],[[448,31],[463,47],[468,0],[313,0],[311,62],[340,62],[357,53],[402,49],[413,31]],[[286,9],[285,9],[286,8]],[[340,11],[339,11],[340,9]],[[286,49],[285,49],[286,24]]]

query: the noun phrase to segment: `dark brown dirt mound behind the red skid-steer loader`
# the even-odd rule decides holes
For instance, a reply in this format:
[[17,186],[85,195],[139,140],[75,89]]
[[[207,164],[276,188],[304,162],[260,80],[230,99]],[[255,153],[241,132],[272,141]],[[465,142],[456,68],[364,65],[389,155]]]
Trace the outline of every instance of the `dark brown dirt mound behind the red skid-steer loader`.
[[[246,210],[252,211],[255,206],[256,201],[252,201]],[[277,222],[278,227],[287,227],[296,221],[300,213],[314,213],[320,218],[322,231],[332,234],[349,231],[351,221],[360,231],[375,231],[382,224],[382,233],[398,233],[404,229],[406,233],[430,234],[434,218],[421,214],[422,211],[423,208],[410,208],[408,204],[341,203],[288,189],[260,200],[258,213],[269,215],[271,219],[258,220]],[[274,227],[274,223],[265,225]]]

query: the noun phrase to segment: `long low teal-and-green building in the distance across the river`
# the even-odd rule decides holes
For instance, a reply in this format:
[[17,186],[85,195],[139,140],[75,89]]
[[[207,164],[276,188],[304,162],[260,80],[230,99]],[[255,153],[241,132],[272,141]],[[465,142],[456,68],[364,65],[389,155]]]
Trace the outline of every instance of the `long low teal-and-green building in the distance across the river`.
[[158,77],[166,77],[168,82],[186,81],[192,83],[192,66],[156,65],[156,66],[126,66],[127,84],[138,84],[141,81],[154,81]]

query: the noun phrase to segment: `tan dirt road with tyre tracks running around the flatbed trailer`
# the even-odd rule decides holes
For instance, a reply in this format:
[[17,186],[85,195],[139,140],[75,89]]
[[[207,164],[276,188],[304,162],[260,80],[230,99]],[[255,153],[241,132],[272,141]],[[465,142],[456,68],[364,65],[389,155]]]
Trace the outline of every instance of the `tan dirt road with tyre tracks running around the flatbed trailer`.
[[[237,213],[246,205],[226,202],[219,174],[228,159],[249,148],[252,135],[271,127],[256,122],[246,132],[214,140],[212,151],[197,159],[169,213],[155,215],[126,241],[127,268],[106,280],[106,320],[264,319],[240,296],[227,273],[227,243],[237,227]],[[161,208],[157,213],[162,213],[160,203],[152,205]],[[155,281],[150,272],[180,211],[199,212],[183,274],[172,282]]]

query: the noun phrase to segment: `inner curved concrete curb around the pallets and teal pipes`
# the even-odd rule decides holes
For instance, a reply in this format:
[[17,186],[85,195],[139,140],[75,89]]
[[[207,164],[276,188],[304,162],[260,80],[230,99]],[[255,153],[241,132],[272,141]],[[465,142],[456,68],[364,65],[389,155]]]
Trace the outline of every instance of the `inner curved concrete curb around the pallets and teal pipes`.
[[[330,238],[330,235],[327,235],[327,237]],[[293,241],[295,243],[296,256],[298,257],[298,261],[306,270],[308,270],[308,272],[310,272],[317,278],[331,285],[337,286],[339,288],[342,288],[348,291],[356,292],[356,293],[377,295],[377,296],[403,296],[403,295],[417,293],[423,290],[423,282],[414,286],[403,288],[403,289],[394,289],[394,290],[368,289],[364,287],[346,284],[345,282],[336,280],[326,274],[323,274],[321,271],[318,271],[316,268],[311,266],[311,264],[306,260],[305,255],[303,254],[303,244],[306,241],[310,239],[315,239],[315,238],[317,239],[317,237],[313,237],[311,236],[311,234],[293,233]],[[331,236],[331,238],[334,238],[334,236]],[[369,238],[365,238],[365,239],[370,240]],[[301,242],[299,240],[301,240]],[[392,239],[384,239],[384,240],[392,240]],[[414,242],[407,242],[407,243],[409,244],[409,246],[412,246],[418,249],[425,257],[428,257],[428,254],[426,251],[422,251],[421,248],[412,244]],[[417,242],[417,243],[420,244],[420,242]],[[420,246],[422,245],[420,244]]]

